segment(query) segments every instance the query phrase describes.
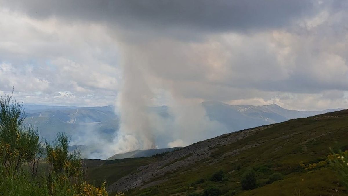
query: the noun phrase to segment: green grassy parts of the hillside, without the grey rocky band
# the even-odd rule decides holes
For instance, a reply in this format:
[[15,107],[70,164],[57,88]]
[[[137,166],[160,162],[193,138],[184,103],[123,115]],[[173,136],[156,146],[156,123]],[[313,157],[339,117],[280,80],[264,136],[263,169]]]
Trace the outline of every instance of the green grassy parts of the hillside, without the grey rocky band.
[[[223,154],[242,149],[247,144],[253,144],[255,147],[216,161]],[[300,195],[347,195],[329,167],[308,172],[299,164],[300,161],[304,164],[317,163],[330,153],[329,147],[345,150],[347,145],[347,110],[289,120],[243,140],[220,146],[209,159],[154,179],[153,181],[167,181],[141,190],[131,190],[127,195],[186,195],[189,192],[199,193],[209,184],[218,186],[225,195],[298,195],[296,192],[299,190]],[[91,173],[108,174],[111,181],[116,181],[120,176],[135,171],[137,166],[151,161],[156,160],[129,159],[105,165]],[[256,171],[258,188],[243,191],[240,185],[241,176],[250,167]],[[128,168],[131,169],[125,172]],[[224,180],[209,181],[209,177],[219,169],[226,174]],[[275,172],[282,173],[284,180],[267,184],[269,176]],[[94,176],[97,179],[102,177],[96,174]],[[206,179],[205,182],[195,183],[202,178]]]

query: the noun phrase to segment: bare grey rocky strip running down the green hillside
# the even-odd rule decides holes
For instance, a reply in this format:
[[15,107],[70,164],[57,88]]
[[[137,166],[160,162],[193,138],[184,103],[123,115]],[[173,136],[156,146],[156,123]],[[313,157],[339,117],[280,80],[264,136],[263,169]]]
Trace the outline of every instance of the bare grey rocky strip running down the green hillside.
[[[141,166],[137,169],[137,172],[122,177],[117,182],[111,184],[108,187],[108,191],[126,191],[133,188],[145,188],[153,186],[154,184],[159,184],[161,183],[161,181],[157,182],[153,181],[153,179],[176,171],[179,168],[188,167],[194,164],[196,161],[207,159],[209,158],[211,153],[216,150],[214,149],[215,147],[234,143],[250,135],[257,134],[258,131],[269,128],[271,126],[272,125],[262,126],[220,135],[215,138],[197,142],[181,150],[168,153],[163,156],[162,160],[146,166]],[[242,149],[230,151],[219,158],[215,158],[213,161],[218,161],[225,156],[238,154],[244,149],[257,145],[258,144],[256,143],[246,145]]]

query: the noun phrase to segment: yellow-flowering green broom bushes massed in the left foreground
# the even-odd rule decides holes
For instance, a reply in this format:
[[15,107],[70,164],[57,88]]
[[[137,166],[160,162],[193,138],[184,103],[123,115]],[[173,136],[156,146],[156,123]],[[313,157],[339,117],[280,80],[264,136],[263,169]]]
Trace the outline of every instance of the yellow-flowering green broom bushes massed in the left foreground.
[[[46,143],[50,171],[38,173],[42,146],[39,131],[25,127],[23,104],[0,97],[0,194],[6,196],[107,196],[105,184],[95,187],[82,178],[79,153],[68,152],[69,137],[57,134]],[[123,193],[116,196],[124,196]]]

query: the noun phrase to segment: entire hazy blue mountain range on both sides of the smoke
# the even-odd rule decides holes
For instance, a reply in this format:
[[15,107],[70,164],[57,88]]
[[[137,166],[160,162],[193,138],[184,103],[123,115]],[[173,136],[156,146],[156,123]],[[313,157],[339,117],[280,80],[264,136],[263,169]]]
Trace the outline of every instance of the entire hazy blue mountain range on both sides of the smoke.
[[[304,118],[343,110],[339,108],[324,111],[295,111],[286,110],[276,104],[239,106],[214,101],[206,101],[201,104],[205,108],[208,118],[226,127],[227,133],[295,118]],[[97,139],[112,141],[114,134],[117,133],[119,129],[120,116],[114,111],[114,106],[76,107],[24,105],[24,108],[25,112],[27,112],[25,123],[38,127],[40,136],[47,140],[54,140],[58,132],[65,132],[72,136],[72,141],[77,141],[73,143],[73,145],[88,145],[84,143],[86,138],[92,141]],[[149,113],[157,113],[162,118],[171,118],[167,106],[149,107]],[[226,130],[216,130],[216,134],[224,134]],[[93,136],[91,138],[89,136],[91,133],[98,135],[98,138],[93,138]],[[156,144],[159,148],[166,148],[168,142],[173,141],[172,138],[167,138],[166,134],[157,136],[157,140]],[[83,146],[80,149],[83,151],[84,149],[88,149],[88,146]],[[93,149],[93,151],[95,150]],[[122,156],[118,155],[117,157],[129,158],[148,156],[145,151],[132,153]],[[82,152],[82,154],[84,153]]]

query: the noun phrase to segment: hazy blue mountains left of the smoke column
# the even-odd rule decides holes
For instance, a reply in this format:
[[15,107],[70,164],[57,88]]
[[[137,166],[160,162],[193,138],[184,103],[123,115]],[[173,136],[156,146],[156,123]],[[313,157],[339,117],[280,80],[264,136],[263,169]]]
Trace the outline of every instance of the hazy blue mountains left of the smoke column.
[[40,136],[47,140],[54,140],[58,132],[78,136],[86,131],[96,131],[110,140],[110,134],[117,131],[119,126],[119,115],[114,113],[113,106],[24,105],[24,110],[27,113],[25,123],[38,127]]

